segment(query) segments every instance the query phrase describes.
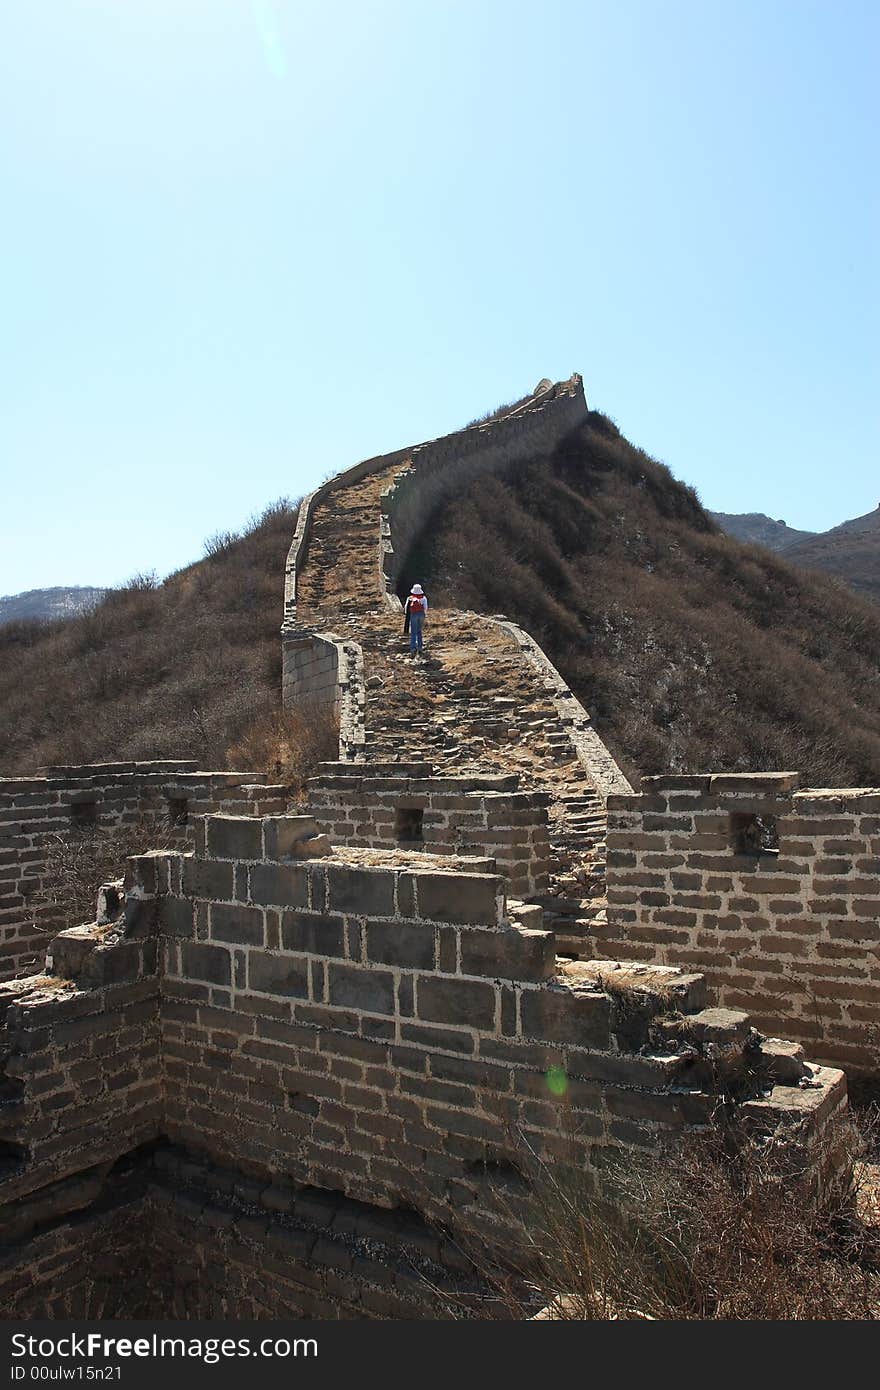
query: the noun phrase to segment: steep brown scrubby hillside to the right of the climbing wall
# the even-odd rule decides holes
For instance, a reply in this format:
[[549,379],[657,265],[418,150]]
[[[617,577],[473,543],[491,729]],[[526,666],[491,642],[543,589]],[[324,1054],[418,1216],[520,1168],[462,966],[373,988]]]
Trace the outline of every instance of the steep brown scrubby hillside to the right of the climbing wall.
[[880,610],[723,535],[603,416],[428,532],[435,602],[523,624],[630,770],[880,783]]

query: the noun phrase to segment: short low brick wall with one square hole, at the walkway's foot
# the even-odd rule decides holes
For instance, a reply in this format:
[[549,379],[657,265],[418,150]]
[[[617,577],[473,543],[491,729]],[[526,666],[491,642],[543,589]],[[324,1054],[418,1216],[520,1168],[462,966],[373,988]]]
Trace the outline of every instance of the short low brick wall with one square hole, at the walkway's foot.
[[335,844],[491,856],[513,897],[548,887],[549,796],[517,791],[516,777],[431,777],[428,763],[324,764],[307,795]]

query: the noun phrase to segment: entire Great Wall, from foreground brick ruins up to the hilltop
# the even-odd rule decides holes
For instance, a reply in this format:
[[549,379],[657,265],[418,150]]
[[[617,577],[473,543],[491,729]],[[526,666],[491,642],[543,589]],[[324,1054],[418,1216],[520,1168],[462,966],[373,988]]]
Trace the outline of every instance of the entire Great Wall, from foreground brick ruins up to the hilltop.
[[[876,1070],[880,791],[634,791],[503,614],[432,606],[406,656],[431,510],[585,418],[544,381],[303,502],[284,699],[339,719],[304,803],[190,763],[0,781],[7,1316],[477,1308],[464,1234],[503,1248],[524,1145],[598,1180],[705,1126],[723,1056],[809,1154]],[[33,912],[51,837],[135,819],[167,845],[93,923]]]

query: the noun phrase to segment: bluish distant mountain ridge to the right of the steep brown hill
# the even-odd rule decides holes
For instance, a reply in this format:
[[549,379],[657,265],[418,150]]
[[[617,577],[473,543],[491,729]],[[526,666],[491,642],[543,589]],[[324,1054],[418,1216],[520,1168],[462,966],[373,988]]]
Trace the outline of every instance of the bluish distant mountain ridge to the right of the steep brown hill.
[[784,555],[790,564],[824,570],[851,588],[880,599],[880,507],[830,531],[795,531],[760,512],[709,513],[727,535]]

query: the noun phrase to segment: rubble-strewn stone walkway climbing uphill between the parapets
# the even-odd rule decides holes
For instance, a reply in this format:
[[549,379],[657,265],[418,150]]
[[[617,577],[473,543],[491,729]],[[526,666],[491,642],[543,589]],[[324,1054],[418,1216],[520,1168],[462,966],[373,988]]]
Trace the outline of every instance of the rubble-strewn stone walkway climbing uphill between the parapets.
[[[603,913],[605,809],[539,673],[480,614],[431,607],[425,659],[412,660],[380,570],[380,496],[399,461],[334,489],[314,510],[298,621],[364,653],[367,762],[430,760],[439,771],[514,773],[551,796],[548,926],[566,949]],[[557,913],[557,919],[553,913]]]

